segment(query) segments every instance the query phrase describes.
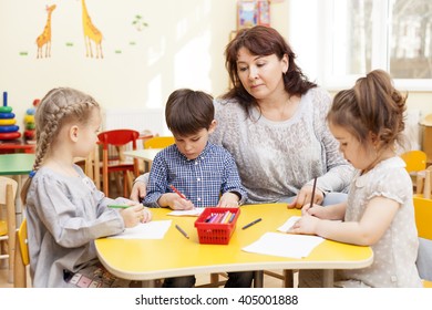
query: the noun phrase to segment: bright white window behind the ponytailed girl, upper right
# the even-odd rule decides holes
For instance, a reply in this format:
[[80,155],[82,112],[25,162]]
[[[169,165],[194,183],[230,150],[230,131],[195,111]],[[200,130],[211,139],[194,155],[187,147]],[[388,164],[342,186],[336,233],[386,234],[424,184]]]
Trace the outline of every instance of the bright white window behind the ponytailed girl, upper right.
[[[318,0],[316,18],[313,1],[306,2],[305,9],[291,9],[318,20],[318,69],[311,75],[319,84],[348,87],[360,75],[383,69],[402,90],[432,90],[431,0]],[[290,30],[299,31],[292,23]],[[304,42],[305,37],[298,40]]]

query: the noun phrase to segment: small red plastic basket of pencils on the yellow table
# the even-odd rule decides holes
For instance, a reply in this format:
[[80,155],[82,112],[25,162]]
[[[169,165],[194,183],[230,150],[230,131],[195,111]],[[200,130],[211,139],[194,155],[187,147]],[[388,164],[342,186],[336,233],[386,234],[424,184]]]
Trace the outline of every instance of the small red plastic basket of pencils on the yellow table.
[[[229,223],[206,223],[206,219],[212,215],[225,214],[226,211],[234,214],[234,218]],[[239,208],[205,208],[195,220],[195,227],[198,229],[199,244],[228,245],[236,229],[239,215]]]

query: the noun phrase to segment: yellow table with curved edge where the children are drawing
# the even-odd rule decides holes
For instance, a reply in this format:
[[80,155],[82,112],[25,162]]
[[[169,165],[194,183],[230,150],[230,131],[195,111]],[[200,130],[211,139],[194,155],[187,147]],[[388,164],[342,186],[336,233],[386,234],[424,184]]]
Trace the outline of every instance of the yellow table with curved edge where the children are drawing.
[[[196,217],[167,216],[169,209],[152,209],[154,220],[172,219],[162,240],[131,240],[102,238],[95,241],[97,256],[113,275],[131,280],[144,280],[153,286],[154,279],[213,273],[225,271],[259,270],[255,287],[263,286],[265,269],[323,269],[325,286],[332,286],[333,269],[364,268],[372,264],[370,247],[325,240],[306,258],[284,258],[243,251],[267,231],[276,231],[299,210],[287,209],[286,204],[241,206],[237,228],[229,245],[200,245],[194,227]],[[247,229],[241,227],[256,218],[263,220]],[[176,228],[178,224],[189,236],[185,238]]]

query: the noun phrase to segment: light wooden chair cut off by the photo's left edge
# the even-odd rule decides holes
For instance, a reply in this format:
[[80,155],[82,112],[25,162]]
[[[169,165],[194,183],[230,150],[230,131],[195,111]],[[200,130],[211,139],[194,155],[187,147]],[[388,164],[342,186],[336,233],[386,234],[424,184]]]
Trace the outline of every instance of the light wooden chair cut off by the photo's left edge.
[[16,251],[16,196],[17,180],[0,177],[0,259],[8,260],[8,281],[13,281],[13,258]]

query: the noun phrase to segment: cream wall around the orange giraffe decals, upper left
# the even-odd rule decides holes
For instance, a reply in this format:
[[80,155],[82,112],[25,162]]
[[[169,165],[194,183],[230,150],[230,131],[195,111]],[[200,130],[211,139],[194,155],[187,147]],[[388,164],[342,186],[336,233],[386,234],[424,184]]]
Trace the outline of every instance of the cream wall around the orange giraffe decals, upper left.
[[[37,59],[35,39],[53,3],[52,55]],[[85,56],[81,0],[0,0],[0,92],[8,92],[20,125],[33,100],[56,86],[88,92],[107,108],[161,112],[174,89],[226,90],[223,53],[236,27],[235,0],[86,0],[86,7],[103,33],[103,60]],[[142,31],[132,24],[136,14],[148,23]]]

